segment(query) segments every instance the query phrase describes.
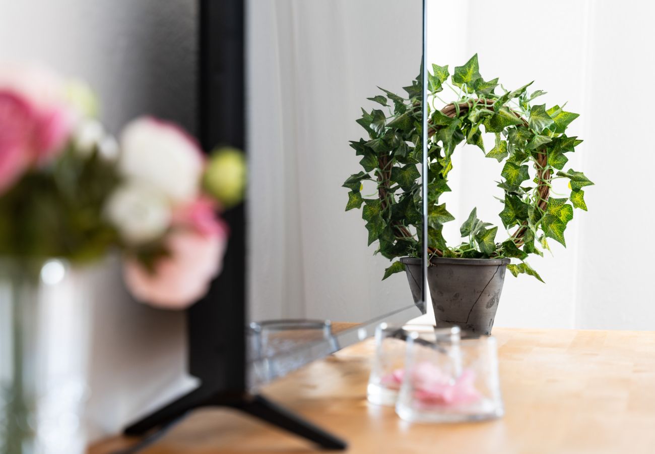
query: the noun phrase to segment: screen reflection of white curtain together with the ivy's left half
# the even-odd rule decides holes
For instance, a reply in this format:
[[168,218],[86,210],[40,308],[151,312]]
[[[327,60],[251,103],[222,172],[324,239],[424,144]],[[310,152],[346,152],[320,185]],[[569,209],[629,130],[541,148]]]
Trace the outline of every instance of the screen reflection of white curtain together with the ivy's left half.
[[420,315],[421,0],[257,0],[247,28],[250,320]]

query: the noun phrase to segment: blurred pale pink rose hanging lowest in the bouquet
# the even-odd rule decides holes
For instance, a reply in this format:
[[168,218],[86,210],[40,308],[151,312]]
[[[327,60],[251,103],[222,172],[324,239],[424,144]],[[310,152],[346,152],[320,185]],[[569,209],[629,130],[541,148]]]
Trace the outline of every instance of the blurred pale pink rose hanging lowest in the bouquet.
[[155,263],[149,272],[134,259],[127,260],[124,277],[132,295],[141,302],[168,309],[187,308],[209,289],[221,270],[225,231],[203,235],[176,230],[166,238],[169,257]]

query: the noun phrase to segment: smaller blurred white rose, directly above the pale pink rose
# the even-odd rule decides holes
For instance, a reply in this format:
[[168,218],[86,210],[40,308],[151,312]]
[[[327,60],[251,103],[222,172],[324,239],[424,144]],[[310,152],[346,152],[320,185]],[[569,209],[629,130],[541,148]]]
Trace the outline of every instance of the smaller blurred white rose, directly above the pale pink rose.
[[162,236],[171,222],[168,199],[158,190],[137,182],[116,188],[105,211],[122,239],[134,245]]

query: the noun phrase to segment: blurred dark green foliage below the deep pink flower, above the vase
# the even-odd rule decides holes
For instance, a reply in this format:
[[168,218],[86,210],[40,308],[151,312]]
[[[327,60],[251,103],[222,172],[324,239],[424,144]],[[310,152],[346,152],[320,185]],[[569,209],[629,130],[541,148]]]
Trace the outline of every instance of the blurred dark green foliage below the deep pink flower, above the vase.
[[81,157],[73,144],[30,171],[0,197],[0,257],[62,257],[85,262],[117,243],[102,209],[118,182],[98,150]]

